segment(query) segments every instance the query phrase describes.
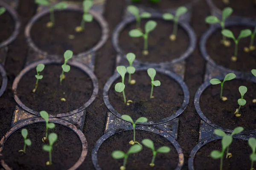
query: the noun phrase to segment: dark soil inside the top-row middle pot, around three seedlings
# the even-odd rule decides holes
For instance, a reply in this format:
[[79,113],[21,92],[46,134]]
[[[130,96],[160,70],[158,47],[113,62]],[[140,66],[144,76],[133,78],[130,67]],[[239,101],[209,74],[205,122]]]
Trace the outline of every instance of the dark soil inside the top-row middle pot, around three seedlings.
[[[145,27],[148,20],[141,21],[141,28]],[[129,31],[136,28],[136,22],[126,26],[120,33],[119,45],[125,53],[132,52],[136,59],[141,62],[170,62],[172,59],[179,58],[185,53],[189,46],[189,37],[181,27],[177,31],[177,39],[169,39],[172,34],[173,23],[165,20],[155,20],[156,28],[148,34],[148,52],[147,56],[142,54],[144,39],[143,37],[130,37]]]

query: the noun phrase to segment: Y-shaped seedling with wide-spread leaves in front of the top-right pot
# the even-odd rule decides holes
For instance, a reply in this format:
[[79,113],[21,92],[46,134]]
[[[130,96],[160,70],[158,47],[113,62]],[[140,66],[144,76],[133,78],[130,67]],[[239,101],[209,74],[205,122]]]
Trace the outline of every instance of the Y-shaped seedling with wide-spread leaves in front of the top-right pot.
[[250,36],[252,34],[252,31],[250,31],[250,29],[242,30],[237,39],[235,38],[233,32],[228,30],[228,29],[222,30],[221,34],[224,35],[225,37],[232,38],[234,40],[234,42],[236,44],[235,53],[234,53],[234,56],[231,57],[231,60],[235,62],[237,60],[237,51],[238,51],[238,42],[239,42],[239,40],[241,38],[246,38],[246,37]]

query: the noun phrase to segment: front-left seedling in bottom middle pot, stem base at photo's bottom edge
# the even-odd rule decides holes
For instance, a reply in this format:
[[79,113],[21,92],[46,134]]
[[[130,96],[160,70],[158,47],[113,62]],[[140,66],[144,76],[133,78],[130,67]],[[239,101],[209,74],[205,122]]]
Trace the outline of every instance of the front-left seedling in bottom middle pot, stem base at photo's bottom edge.
[[125,170],[125,166],[127,163],[128,156],[133,153],[138,153],[142,150],[142,146],[140,144],[134,144],[130,147],[127,153],[124,153],[121,150],[115,150],[112,152],[113,159],[124,159],[123,165],[120,167],[120,170]]

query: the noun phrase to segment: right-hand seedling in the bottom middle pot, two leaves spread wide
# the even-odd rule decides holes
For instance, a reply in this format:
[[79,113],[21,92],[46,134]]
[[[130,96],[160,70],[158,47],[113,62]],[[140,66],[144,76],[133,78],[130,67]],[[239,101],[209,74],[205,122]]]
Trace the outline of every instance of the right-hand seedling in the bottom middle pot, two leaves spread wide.
[[154,167],[154,160],[157,156],[157,153],[169,153],[171,150],[167,146],[162,146],[162,147],[159,147],[157,150],[155,150],[154,142],[151,141],[150,139],[143,139],[141,142],[145,145],[145,147],[150,148],[153,152],[153,158],[152,158],[151,163],[149,164],[151,167]]

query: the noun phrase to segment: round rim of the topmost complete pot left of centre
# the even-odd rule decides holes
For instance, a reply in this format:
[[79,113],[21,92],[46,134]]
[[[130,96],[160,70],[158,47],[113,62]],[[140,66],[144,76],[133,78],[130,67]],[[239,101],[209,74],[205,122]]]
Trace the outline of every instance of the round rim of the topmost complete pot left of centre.
[[[74,6],[74,5],[68,5],[68,7],[66,9],[54,9],[54,11],[75,11],[75,12],[81,12],[83,13],[83,9],[79,8],[79,6]],[[49,9],[44,9],[41,12],[39,12],[38,14],[35,14],[34,17],[32,17],[32,19],[29,21],[29,23],[26,25],[25,28],[25,37],[26,37],[26,41],[29,45],[30,48],[33,49],[33,51],[38,52],[41,55],[46,55],[48,57],[60,57],[62,55],[59,54],[48,54],[47,51],[43,51],[41,50],[36,44],[35,42],[33,42],[32,37],[30,35],[30,31],[31,28],[33,27],[33,25],[35,24],[35,22],[37,22],[37,20],[41,17],[44,17],[45,15],[49,14]],[[88,13],[93,15],[93,18],[97,21],[97,23],[99,23],[99,26],[101,27],[102,30],[102,36],[99,40],[99,42],[96,43],[96,45],[93,46],[93,48],[89,49],[88,51],[84,51],[81,52],[79,54],[73,55],[73,57],[84,57],[87,54],[90,54],[93,51],[97,51],[99,48],[101,48],[105,42],[108,40],[108,23],[104,20],[104,18],[98,14],[97,12],[93,11],[93,10],[89,10]]]

